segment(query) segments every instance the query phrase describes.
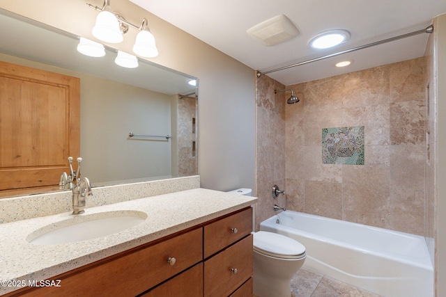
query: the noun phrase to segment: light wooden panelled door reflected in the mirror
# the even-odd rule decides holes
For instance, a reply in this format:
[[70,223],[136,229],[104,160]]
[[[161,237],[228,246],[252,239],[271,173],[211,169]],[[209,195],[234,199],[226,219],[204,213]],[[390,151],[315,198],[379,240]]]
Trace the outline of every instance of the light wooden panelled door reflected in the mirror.
[[78,78],[0,61],[0,197],[56,189],[79,118]]

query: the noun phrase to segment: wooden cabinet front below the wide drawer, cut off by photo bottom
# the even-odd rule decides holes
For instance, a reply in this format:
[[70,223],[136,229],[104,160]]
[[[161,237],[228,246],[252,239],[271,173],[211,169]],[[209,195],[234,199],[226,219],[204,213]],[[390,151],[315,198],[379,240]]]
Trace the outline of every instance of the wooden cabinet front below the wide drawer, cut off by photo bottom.
[[[251,289],[252,291],[252,289]],[[141,297],[197,297],[203,296],[203,263],[200,263]],[[243,295],[240,295],[243,296]],[[247,296],[247,295],[245,295]],[[251,293],[252,296],[252,293]]]

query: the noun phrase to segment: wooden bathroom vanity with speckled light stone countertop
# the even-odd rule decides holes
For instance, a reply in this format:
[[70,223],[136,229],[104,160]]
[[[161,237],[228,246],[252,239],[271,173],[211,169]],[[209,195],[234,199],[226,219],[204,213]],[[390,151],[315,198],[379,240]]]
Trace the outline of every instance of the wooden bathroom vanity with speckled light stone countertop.
[[[19,242],[11,246],[22,246],[23,257],[12,260],[10,255],[5,262],[8,269],[13,265],[9,270],[17,270],[15,278],[5,273],[0,278],[26,284],[47,280],[54,286],[14,288],[6,296],[252,296],[250,205],[255,202],[254,197],[195,188],[86,209],[137,209],[148,218],[105,239],[52,246],[33,246],[18,235],[13,240]],[[21,226],[16,231],[24,236],[67,216],[2,224],[0,232],[5,225]],[[41,262],[31,260],[42,255],[46,259]]]

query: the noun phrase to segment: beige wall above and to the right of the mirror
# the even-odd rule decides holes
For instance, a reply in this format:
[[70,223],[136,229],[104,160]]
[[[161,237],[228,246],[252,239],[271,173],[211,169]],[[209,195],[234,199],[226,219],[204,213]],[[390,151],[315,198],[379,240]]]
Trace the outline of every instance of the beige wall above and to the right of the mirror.
[[[222,191],[254,188],[254,70],[130,1],[111,4],[129,22],[148,19],[160,51],[151,61],[199,79],[201,186]],[[98,13],[86,1],[72,0],[0,0],[0,7],[86,38],[93,38]],[[136,33],[130,29],[124,42],[113,47],[132,52]]]

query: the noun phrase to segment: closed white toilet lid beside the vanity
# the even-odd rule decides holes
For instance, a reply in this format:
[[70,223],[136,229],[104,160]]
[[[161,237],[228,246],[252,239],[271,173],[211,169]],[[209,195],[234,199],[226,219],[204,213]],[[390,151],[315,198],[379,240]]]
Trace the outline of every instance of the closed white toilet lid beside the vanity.
[[305,257],[305,246],[287,236],[259,231],[254,233],[254,250],[278,258]]

